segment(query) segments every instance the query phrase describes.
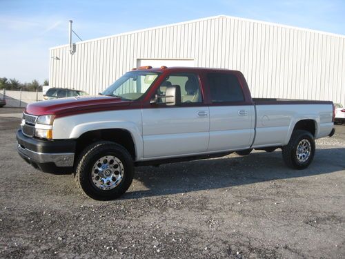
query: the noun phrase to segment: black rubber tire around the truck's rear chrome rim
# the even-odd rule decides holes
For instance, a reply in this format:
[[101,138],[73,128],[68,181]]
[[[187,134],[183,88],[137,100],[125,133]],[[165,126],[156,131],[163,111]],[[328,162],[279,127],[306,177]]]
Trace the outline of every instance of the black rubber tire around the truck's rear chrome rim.
[[[299,147],[299,143],[302,143],[303,140],[306,140],[310,144],[309,155],[301,157],[301,159],[306,159],[305,161],[301,161],[297,158],[297,148]],[[285,164],[290,168],[298,170],[306,169],[309,164],[313,162],[315,155],[315,141],[313,135],[308,131],[293,131],[288,144],[282,147],[282,155]]]

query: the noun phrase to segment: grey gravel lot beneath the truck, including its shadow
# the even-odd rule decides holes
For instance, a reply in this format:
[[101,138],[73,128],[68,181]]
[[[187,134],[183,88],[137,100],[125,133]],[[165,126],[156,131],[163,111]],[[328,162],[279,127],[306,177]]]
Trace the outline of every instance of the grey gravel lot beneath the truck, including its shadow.
[[345,258],[345,126],[313,164],[280,151],[137,168],[121,200],[28,166],[0,117],[1,258]]

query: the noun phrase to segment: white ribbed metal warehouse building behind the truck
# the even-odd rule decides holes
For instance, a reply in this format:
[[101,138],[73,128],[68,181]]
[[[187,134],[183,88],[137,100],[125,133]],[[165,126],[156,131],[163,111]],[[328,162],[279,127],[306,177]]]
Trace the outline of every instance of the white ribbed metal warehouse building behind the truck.
[[50,49],[50,86],[97,94],[137,66],[244,73],[253,97],[345,104],[345,36],[228,16],[209,17]]

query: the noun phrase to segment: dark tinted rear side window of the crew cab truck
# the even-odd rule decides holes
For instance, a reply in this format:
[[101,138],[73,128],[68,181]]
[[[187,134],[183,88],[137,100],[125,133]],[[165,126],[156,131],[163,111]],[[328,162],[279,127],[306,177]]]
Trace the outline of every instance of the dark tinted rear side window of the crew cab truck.
[[244,102],[244,94],[235,75],[211,73],[207,75],[213,103]]

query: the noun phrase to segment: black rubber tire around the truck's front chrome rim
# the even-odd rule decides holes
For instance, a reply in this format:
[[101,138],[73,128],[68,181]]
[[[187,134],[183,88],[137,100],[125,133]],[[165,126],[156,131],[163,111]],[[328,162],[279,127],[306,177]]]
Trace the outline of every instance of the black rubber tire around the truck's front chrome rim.
[[[113,189],[108,190],[100,189],[92,180],[92,173],[94,173],[92,167],[97,160],[106,155],[117,157],[124,169],[119,184],[113,187]],[[119,198],[132,184],[133,177],[134,164],[126,148],[114,142],[105,141],[95,142],[81,152],[75,173],[77,186],[79,186],[83,193],[95,200],[114,200]]]

